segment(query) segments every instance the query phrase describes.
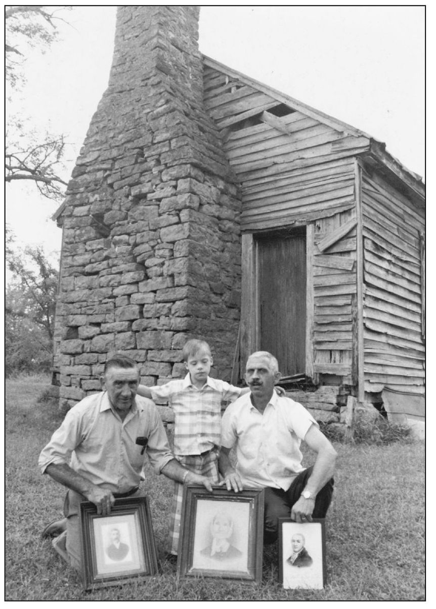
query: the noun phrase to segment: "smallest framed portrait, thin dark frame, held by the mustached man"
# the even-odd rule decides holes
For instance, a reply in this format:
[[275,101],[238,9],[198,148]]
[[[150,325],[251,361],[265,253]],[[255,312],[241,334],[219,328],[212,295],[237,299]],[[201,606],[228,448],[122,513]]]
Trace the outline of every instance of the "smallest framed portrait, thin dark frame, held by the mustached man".
[[278,519],[279,579],[283,588],[322,590],[326,582],[325,520]]

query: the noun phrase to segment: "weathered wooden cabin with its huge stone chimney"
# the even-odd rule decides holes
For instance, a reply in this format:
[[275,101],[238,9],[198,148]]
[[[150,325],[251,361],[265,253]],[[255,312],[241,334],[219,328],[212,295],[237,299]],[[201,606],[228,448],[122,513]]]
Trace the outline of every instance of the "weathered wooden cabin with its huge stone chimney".
[[227,380],[275,354],[319,420],[343,420],[350,397],[423,418],[421,178],[199,54],[198,11],[118,9],[108,90],[55,214],[62,407],[115,350],[146,384],[180,376],[197,336]]

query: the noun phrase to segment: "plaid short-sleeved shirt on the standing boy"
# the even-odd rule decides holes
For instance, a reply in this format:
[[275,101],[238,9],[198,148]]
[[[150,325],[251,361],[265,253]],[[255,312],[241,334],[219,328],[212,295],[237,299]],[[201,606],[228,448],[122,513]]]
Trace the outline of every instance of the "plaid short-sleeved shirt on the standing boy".
[[202,389],[192,385],[189,373],[184,379],[150,387],[152,399],[167,400],[174,410],[174,452],[199,455],[220,444],[221,402],[241,395],[241,387],[208,376]]

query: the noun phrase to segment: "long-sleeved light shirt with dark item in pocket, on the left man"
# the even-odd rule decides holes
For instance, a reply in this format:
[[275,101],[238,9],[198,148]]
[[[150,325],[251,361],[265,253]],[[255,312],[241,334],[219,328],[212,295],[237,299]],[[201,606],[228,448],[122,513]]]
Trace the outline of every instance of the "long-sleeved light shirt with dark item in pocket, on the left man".
[[[147,438],[146,450],[136,438]],[[124,421],[111,408],[107,392],[87,396],[65,415],[43,448],[38,465],[66,463],[93,484],[113,493],[127,493],[144,480],[149,457],[155,471],[174,456],[155,404],[136,396]]]

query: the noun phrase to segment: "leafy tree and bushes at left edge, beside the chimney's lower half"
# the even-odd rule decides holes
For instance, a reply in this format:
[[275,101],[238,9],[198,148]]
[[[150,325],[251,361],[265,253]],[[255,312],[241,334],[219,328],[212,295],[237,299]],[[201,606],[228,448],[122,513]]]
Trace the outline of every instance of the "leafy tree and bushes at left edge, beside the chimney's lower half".
[[14,253],[7,241],[5,372],[47,371],[52,365],[58,272],[41,247]]

